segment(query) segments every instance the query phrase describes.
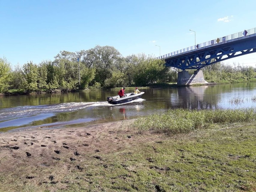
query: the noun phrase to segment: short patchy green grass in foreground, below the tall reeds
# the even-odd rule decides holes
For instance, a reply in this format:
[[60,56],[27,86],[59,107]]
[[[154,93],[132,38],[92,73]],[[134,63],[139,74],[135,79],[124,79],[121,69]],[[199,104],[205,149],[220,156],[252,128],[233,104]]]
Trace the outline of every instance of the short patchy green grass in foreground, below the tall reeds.
[[[158,135],[108,154],[87,154],[70,162],[68,169],[58,161],[54,167],[21,167],[17,176],[0,172],[0,191],[255,191],[255,124],[210,128],[175,137]],[[75,168],[77,163],[82,170]],[[29,171],[39,175],[20,179]],[[58,182],[51,184],[49,175]]]

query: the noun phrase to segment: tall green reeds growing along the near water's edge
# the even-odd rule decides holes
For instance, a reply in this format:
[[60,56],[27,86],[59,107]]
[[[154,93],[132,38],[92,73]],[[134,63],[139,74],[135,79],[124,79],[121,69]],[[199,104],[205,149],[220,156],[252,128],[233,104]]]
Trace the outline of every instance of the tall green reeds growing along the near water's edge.
[[212,123],[234,123],[256,119],[254,108],[225,110],[168,110],[161,114],[139,117],[133,123],[138,133],[152,130],[155,133],[188,133],[191,130],[208,127]]

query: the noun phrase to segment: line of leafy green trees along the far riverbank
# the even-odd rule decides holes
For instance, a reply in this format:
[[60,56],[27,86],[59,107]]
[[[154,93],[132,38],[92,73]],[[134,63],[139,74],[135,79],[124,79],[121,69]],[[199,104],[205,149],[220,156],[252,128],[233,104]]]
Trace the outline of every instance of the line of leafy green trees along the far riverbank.
[[[79,66],[77,59],[79,58]],[[192,70],[189,70],[191,73]],[[79,72],[80,79],[79,82]],[[254,79],[256,68],[215,63],[203,68],[208,82],[233,82]],[[53,61],[23,66],[0,58],[0,93],[19,90],[24,93],[60,89],[113,88],[177,82],[178,69],[166,68],[164,60],[145,54],[123,57],[111,46],[95,46],[77,52],[60,51]]]

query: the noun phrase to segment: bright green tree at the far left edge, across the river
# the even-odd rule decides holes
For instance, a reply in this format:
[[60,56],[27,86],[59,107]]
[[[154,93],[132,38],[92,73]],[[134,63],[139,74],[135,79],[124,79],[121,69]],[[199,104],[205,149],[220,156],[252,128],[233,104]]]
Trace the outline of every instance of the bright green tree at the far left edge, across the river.
[[11,81],[10,62],[6,58],[0,58],[0,93],[5,92],[9,88]]

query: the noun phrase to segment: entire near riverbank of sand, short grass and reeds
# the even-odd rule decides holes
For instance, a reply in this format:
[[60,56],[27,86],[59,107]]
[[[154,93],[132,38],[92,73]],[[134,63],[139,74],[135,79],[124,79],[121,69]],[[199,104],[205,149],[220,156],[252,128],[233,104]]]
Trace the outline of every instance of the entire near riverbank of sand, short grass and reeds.
[[0,191],[256,190],[254,108],[0,135]]

